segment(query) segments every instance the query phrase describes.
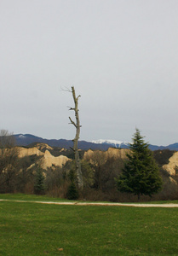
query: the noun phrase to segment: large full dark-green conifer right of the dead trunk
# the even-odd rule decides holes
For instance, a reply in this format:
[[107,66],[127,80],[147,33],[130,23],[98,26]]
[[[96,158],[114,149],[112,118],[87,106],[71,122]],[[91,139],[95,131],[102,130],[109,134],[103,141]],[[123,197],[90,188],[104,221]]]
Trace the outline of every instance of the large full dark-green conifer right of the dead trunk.
[[138,200],[141,195],[151,197],[162,189],[162,179],[152,151],[138,129],[129,148],[131,150],[131,153],[127,154],[129,160],[125,162],[123,172],[117,180],[118,190],[138,195]]

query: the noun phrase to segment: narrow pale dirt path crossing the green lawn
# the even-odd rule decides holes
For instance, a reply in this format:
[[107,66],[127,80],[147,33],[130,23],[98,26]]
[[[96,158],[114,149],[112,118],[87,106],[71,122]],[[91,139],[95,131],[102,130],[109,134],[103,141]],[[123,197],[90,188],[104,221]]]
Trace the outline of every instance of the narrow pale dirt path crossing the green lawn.
[[166,207],[175,208],[178,204],[142,204],[142,203],[100,203],[100,202],[55,202],[55,201],[20,201],[20,200],[7,200],[0,199],[0,201],[16,201],[16,202],[29,202],[38,204],[50,204],[50,205],[63,205],[63,206],[106,206],[106,207]]

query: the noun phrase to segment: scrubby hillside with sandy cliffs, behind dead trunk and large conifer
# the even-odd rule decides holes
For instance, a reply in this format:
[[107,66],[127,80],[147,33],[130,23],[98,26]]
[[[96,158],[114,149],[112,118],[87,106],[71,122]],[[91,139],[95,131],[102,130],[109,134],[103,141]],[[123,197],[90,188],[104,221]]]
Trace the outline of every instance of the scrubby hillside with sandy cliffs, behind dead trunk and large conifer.
[[[83,191],[79,198],[92,201],[137,201],[135,195],[118,192],[115,179],[122,172],[129,149],[80,150]],[[178,153],[169,149],[153,152],[164,181],[157,195],[142,201],[178,199]],[[0,193],[21,192],[67,197],[75,179],[72,149],[46,143],[1,149]],[[43,178],[42,178],[43,177]],[[40,185],[40,186],[39,186]],[[37,189],[39,188],[39,189]]]

